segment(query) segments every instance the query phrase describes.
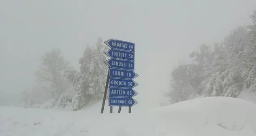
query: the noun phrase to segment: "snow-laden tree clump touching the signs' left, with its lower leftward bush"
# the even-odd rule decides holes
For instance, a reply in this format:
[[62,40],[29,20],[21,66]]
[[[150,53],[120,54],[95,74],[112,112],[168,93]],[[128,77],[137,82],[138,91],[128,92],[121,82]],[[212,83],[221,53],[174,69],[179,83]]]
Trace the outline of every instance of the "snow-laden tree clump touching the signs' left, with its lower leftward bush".
[[104,61],[107,46],[101,38],[95,46],[87,46],[79,59],[80,72],[66,71],[68,79],[73,82],[76,94],[73,97],[73,110],[81,109],[91,100],[103,97],[108,67]]

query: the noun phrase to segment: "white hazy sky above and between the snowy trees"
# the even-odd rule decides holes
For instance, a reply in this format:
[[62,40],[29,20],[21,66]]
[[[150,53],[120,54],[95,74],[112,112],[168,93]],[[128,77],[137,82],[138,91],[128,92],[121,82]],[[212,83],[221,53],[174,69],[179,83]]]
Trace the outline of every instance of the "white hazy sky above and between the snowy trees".
[[135,42],[135,107],[158,107],[172,65],[249,24],[254,9],[256,0],[0,0],[0,95],[31,88],[53,47],[78,68],[100,36]]

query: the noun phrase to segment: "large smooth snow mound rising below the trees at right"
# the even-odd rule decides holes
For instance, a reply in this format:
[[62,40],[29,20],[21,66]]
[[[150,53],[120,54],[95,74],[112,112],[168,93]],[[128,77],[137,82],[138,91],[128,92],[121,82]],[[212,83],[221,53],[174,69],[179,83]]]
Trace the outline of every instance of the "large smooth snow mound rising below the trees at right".
[[238,98],[197,98],[152,113],[173,132],[186,130],[198,136],[245,136],[247,132],[254,136],[256,132],[256,105]]

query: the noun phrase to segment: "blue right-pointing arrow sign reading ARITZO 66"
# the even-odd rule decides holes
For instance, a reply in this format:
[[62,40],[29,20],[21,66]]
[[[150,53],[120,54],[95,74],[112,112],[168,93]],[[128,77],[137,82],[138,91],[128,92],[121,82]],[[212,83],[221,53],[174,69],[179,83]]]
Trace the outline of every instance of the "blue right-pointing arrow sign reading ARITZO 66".
[[130,88],[109,88],[109,97],[133,97],[138,93]]

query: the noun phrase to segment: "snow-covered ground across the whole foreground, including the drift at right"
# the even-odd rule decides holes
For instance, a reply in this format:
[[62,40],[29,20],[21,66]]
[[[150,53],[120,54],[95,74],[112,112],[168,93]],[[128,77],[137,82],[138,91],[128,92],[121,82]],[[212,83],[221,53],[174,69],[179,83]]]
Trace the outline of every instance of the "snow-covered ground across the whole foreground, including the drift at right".
[[256,105],[239,98],[197,98],[132,114],[105,108],[0,107],[0,136],[256,136]]

